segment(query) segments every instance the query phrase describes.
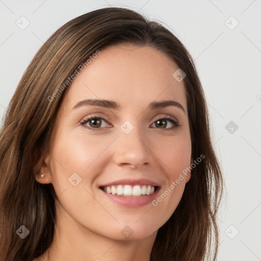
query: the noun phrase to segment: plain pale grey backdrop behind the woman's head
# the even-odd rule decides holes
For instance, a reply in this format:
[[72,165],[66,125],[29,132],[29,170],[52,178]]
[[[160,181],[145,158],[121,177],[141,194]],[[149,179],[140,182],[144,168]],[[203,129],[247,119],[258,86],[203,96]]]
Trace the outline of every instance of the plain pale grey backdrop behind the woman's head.
[[110,5],[162,21],[190,51],[226,182],[218,260],[261,260],[260,0],[0,1],[0,117],[43,42],[70,19]]

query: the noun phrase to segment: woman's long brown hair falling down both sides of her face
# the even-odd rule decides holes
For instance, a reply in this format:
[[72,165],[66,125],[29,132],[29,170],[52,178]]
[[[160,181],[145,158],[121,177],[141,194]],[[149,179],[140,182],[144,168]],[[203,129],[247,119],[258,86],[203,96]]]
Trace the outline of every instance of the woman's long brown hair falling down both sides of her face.
[[[205,157],[192,170],[173,215],[159,228],[150,260],[199,261],[211,255],[211,260],[216,260],[223,178],[193,59],[159,22],[133,10],[109,7],[76,17],[58,29],[39,49],[10,101],[0,132],[2,261],[31,261],[51,244],[56,195],[52,184],[39,184],[35,177],[50,149],[56,115],[66,91],[64,83],[97,50],[118,43],[151,46],[187,74],[184,83],[192,159],[201,154]],[[24,239],[17,236],[22,225],[30,232]]]

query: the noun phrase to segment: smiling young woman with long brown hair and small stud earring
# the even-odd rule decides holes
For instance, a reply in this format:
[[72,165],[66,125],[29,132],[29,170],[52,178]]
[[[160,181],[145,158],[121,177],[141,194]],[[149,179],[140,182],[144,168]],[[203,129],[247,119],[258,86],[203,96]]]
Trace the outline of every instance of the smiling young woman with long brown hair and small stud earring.
[[22,76],[0,140],[1,260],[216,260],[206,102],[159,23],[124,8],[67,22]]

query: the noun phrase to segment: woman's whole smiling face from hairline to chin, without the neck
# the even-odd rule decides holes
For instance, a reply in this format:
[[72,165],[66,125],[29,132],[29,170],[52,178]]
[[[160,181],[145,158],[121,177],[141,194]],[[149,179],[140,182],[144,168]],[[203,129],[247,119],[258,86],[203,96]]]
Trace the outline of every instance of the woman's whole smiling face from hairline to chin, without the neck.
[[80,71],[42,167],[41,182],[58,196],[57,215],[114,240],[146,238],[166,223],[191,175],[182,174],[191,165],[191,138],[177,69],[152,47],[125,44],[101,50]]

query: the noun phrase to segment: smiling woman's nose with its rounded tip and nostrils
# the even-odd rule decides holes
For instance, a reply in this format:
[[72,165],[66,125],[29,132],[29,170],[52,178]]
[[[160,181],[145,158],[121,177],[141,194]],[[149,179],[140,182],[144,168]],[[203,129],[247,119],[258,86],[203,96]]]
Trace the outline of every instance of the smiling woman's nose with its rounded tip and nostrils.
[[137,127],[129,134],[120,130],[114,149],[113,159],[118,166],[126,165],[135,169],[152,161],[148,139],[145,139],[145,135]]

